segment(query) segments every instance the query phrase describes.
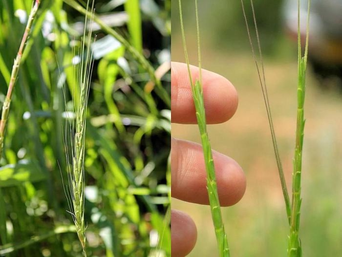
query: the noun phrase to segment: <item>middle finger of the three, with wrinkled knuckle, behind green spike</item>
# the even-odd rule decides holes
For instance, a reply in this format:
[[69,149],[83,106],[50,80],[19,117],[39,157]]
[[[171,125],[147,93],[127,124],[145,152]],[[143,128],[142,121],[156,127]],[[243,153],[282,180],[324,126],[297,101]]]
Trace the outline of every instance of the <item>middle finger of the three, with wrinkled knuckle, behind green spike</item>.
[[[209,204],[202,146],[175,138],[171,145],[172,197]],[[213,151],[213,158],[220,204],[234,205],[246,190],[245,174],[234,159],[216,151]]]

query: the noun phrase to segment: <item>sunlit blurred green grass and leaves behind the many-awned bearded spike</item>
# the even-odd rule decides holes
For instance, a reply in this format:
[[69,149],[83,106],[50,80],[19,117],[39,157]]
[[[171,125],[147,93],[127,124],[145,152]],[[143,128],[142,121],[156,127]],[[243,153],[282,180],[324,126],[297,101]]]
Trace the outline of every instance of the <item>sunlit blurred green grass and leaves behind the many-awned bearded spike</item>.
[[[0,2],[1,102],[31,6],[32,0]],[[170,61],[170,8],[170,0],[95,3],[105,25],[153,69]],[[170,99],[159,97],[170,95],[167,65],[158,75],[162,87],[156,94],[146,65],[104,27],[92,26],[97,39],[91,45],[95,64],[85,138],[87,255],[170,256],[171,113]],[[70,5],[42,1],[23,54],[0,161],[0,256],[82,256],[67,212],[63,138],[65,112],[77,101],[72,46],[79,44],[83,28],[84,16]]]

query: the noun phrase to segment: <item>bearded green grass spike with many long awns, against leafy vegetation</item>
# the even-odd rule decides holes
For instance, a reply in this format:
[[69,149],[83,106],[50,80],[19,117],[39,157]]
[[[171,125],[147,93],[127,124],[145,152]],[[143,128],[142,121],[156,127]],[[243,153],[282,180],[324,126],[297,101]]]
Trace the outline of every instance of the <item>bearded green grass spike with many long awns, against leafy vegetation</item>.
[[[94,14],[94,1],[92,1],[91,11],[88,10],[89,0],[87,0],[86,12],[91,13],[90,20],[88,16],[85,16],[85,30],[89,27],[88,33],[84,30],[79,57],[80,63],[74,64],[74,82],[78,83],[74,86],[76,88],[77,96],[74,99],[74,113],[76,115],[76,121],[70,117],[72,121],[70,124],[71,133],[71,162],[72,167],[68,166],[68,179],[69,185],[66,188],[66,195],[68,198],[70,213],[73,217],[76,232],[82,244],[84,255],[85,252],[85,217],[84,217],[84,201],[85,201],[85,121],[86,121],[86,109],[89,95],[90,78],[93,68],[92,52],[90,50],[91,40],[91,23],[93,21]],[[88,22],[90,26],[88,26]],[[65,94],[64,94],[65,95]],[[67,112],[68,113],[68,112]],[[65,130],[67,125],[65,126]],[[64,144],[66,151],[67,162],[69,163],[66,131],[64,131]]]

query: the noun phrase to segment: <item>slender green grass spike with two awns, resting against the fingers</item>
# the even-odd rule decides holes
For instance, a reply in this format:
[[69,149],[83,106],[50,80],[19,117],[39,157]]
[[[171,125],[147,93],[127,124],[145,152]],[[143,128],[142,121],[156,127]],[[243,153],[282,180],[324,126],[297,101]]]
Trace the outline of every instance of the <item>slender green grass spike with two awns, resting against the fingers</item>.
[[230,252],[229,252],[227,234],[225,233],[225,230],[224,230],[221,208],[220,208],[220,203],[219,203],[218,193],[217,193],[217,183],[216,183],[212,148],[211,148],[210,140],[209,140],[208,133],[207,133],[207,122],[206,122],[206,116],[205,116],[205,107],[204,107],[204,99],[203,99],[203,84],[202,84],[202,74],[201,74],[201,54],[200,54],[200,36],[199,36],[199,24],[198,24],[199,22],[198,22],[197,0],[195,0],[195,12],[196,12],[196,28],[197,28],[197,44],[198,44],[199,79],[196,79],[195,83],[193,83],[192,81],[189,57],[188,57],[188,52],[186,48],[181,0],[178,0],[178,2],[179,2],[179,16],[180,16],[182,40],[183,40],[183,46],[184,46],[184,54],[185,54],[185,59],[186,59],[188,72],[189,72],[189,78],[190,78],[190,83],[191,83],[191,88],[192,88],[192,97],[193,97],[193,102],[194,102],[195,109],[196,109],[198,128],[199,128],[199,132],[201,135],[204,161],[205,161],[205,166],[206,166],[206,171],[207,171],[207,189],[208,189],[210,208],[211,208],[212,218],[213,218],[213,223],[214,223],[215,235],[216,235],[216,240],[217,240],[217,245],[218,245],[218,250],[219,250],[219,256],[229,257]]

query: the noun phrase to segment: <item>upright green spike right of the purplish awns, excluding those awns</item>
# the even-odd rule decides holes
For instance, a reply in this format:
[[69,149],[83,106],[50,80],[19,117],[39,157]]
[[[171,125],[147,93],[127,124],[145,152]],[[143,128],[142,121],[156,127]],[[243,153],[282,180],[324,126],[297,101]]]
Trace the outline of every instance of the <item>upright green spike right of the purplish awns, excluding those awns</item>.
[[305,98],[305,74],[308,53],[309,40],[309,13],[310,0],[308,1],[308,16],[306,24],[306,40],[304,56],[301,54],[300,46],[300,0],[298,0],[298,87],[297,87],[297,129],[296,129],[296,147],[294,167],[292,173],[292,216],[290,221],[290,236],[289,245],[287,249],[288,257],[301,257],[301,245],[299,239],[299,221],[300,221],[300,206],[301,206],[301,164],[302,164],[302,150],[304,138],[304,98]]

